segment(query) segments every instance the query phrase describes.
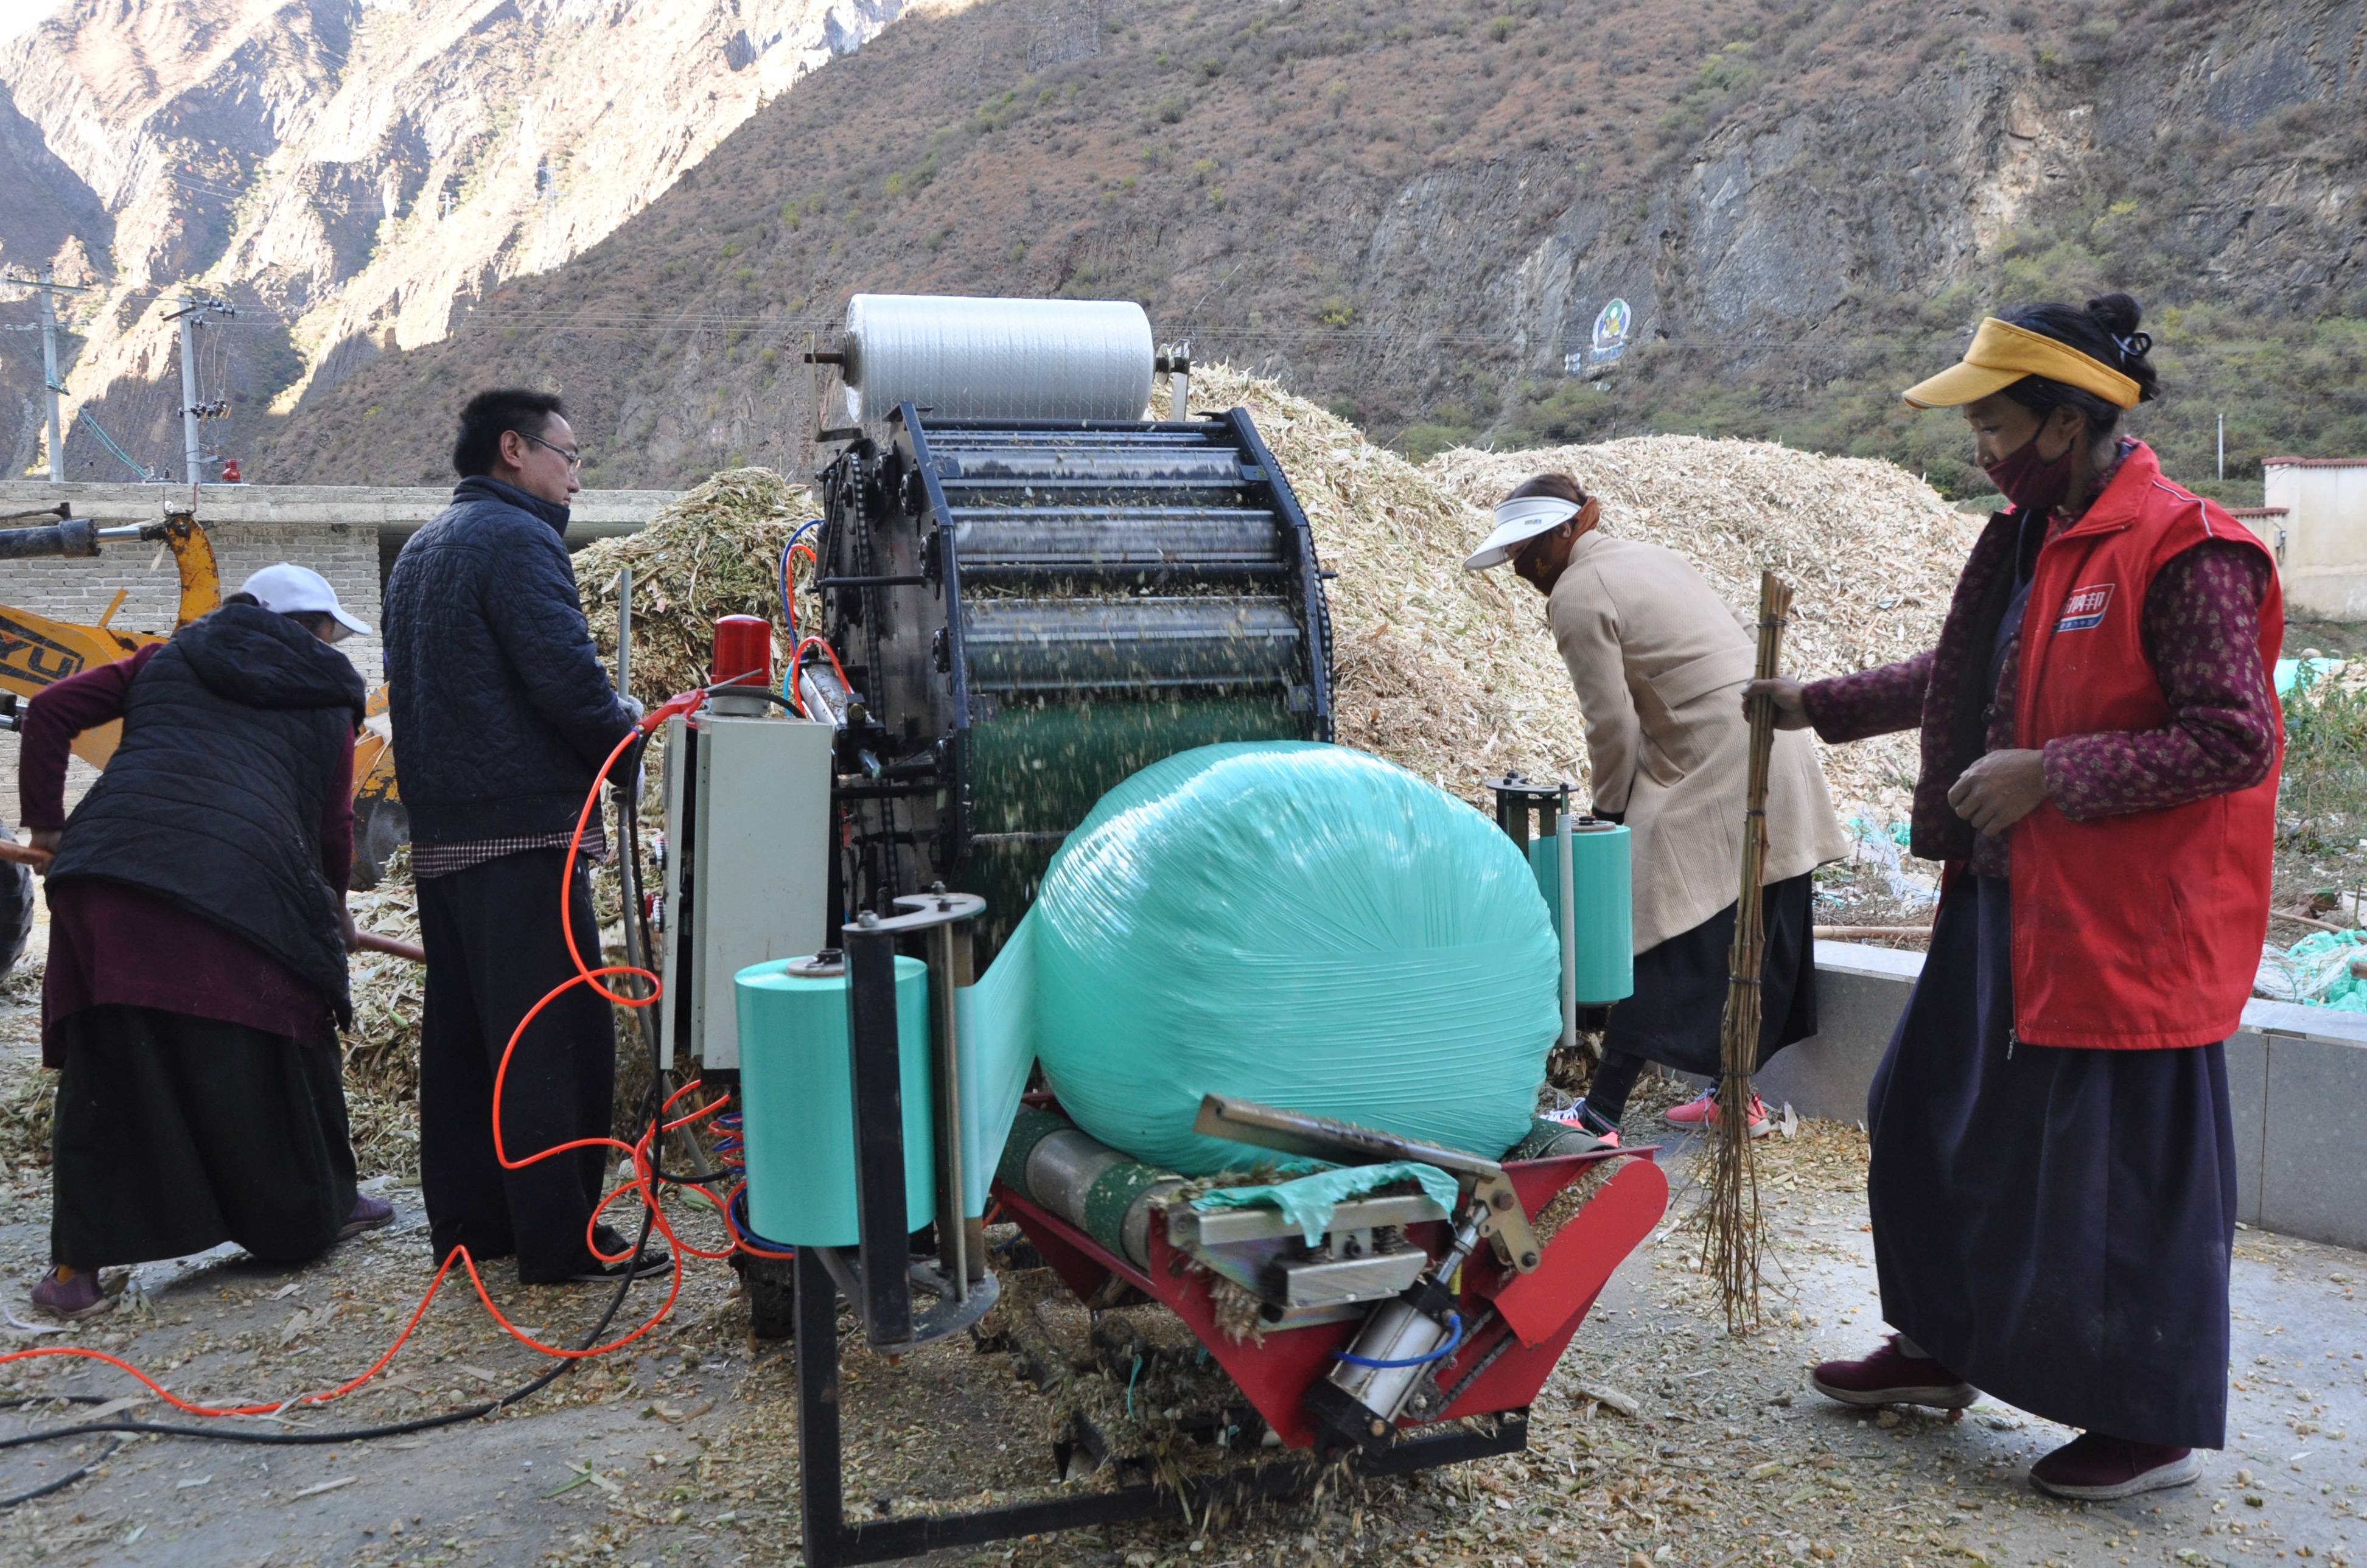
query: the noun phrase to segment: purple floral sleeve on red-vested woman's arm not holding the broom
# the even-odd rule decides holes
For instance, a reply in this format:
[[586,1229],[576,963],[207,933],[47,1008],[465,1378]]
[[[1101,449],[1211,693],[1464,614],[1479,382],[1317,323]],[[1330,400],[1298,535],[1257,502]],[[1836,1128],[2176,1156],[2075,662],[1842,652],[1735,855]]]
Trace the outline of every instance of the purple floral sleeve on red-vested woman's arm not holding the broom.
[[2268,778],[2282,724],[2260,662],[2270,570],[2234,542],[2197,544],[2161,568],[2145,596],[2145,653],[2171,721],[2050,740],[2047,797],[2064,816],[2166,811]]

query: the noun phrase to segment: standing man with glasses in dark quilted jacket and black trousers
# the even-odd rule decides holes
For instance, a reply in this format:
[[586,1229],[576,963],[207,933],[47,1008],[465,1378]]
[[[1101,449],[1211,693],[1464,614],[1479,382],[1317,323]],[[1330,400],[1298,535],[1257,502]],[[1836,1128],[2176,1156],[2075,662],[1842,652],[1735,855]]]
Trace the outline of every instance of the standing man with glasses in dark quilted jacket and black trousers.
[[[608,1152],[542,1149],[606,1138],[615,1026],[575,974],[561,929],[568,837],[601,759],[639,707],[608,686],[568,561],[568,497],[582,468],[552,393],[478,393],[452,445],[452,504],[402,546],[386,584],[386,683],[395,776],[412,823],[419,934],[428,953],[419,1029],[419,1180],[438,1258],[518,1258],[528,1284],[660,1272],[592,1225]],[[623,766],[630,766],[623,764]],[[594,823],[599,816],[594,816]],[[575,948],[599,967],[585,837],[566,901]]]

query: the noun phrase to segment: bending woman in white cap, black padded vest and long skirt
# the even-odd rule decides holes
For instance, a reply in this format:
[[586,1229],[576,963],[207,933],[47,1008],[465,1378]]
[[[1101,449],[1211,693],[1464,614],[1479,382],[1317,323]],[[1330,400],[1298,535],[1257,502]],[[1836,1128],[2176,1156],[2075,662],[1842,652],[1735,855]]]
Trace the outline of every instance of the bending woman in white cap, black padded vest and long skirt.
[[[19,788],[50,849],[43,1062],[59,1069],[50,1275],[36,1305],[111,1305],[99,1270],[237,1242],[301,1263],[386,1225],[355,1192],[336,1026],[369,631],[301,565],[50,686]],[[123,724],[64,814],[66,747]]]

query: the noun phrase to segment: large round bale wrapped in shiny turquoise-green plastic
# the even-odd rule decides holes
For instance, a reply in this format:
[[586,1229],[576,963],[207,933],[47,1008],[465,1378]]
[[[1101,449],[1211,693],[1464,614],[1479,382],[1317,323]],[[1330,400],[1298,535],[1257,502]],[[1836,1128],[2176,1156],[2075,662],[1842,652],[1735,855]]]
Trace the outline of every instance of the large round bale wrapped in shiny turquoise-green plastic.
[[1134,773],[1053,856],[997,970],[1013,948],[1060,1107],[1184,1175],[1271,1161],[1191,1130],[1207,1093],[1496,1156],[1560,1034],[1555,934],[1513,840],[1333,745]]

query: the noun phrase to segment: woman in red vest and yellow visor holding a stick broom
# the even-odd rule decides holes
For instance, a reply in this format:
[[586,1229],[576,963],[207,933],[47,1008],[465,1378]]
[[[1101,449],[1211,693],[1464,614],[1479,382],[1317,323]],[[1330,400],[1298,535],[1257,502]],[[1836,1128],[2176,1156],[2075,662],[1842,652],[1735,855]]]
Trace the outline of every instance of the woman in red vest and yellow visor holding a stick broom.
[[2189,1483],[2227,1414],[2223,1043],[2268,927],[2284,724],[2277,568],[2118,435],[2159,393],[2123,293],[1988,319],[1908,390],[1962,409],[2010,508],[1931,653],[1759,681],[1825,740],[1922,731],[1931,953],[1868,1102],[1898,1329],[1815,1369],[1849,1405],[1976,1391],[2083,1428],[2062,1497]]

